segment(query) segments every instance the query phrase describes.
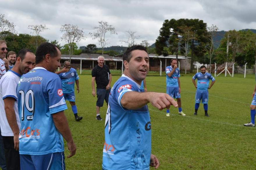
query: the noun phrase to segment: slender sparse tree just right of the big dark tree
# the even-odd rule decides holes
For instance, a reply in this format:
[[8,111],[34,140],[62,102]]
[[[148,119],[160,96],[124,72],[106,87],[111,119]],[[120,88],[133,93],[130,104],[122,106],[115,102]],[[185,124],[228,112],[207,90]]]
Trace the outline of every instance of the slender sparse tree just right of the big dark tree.
[[216,43],[216,41],[214,41],[214,37],[216,36],[218,29],[219,28],[216,25],[211,25],[210,27],[207,27],[207,33],[208,33],[207,37],[209,39],[209,42],[208,42],[206,48],[209,51],[210,73],[211,73],[211,59],[212,59],[212,56],[214,53],[214,44]]

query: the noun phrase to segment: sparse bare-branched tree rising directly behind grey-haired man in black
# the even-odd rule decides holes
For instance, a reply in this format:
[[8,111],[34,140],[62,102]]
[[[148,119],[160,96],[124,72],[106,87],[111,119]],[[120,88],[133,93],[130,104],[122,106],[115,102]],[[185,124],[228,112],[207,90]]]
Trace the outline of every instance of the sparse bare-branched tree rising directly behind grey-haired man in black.
[[106,21],[99,21],[99,26],[94,27],[94,30],[96,30],[96,32],[93,33],[89,33],[89,35],[91,37],[93,37],[93,39],[98,39],[101,47],[102,47],[102,55],[104,53],[104,48],[106,46],[106,44],[108,44],[108,39],[105,38],[106,33],[110,32],[111,35],[116,34],[115,32],[115,28],[112,25],[109,25],[108,22]]

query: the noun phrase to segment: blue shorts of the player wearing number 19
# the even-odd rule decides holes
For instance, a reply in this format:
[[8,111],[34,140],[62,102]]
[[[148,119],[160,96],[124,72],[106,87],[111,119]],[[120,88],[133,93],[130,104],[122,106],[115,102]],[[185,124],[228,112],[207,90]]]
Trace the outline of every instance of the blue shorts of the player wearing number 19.
[[65,170],[64,152],[46,155],[19,155],[21,170]]

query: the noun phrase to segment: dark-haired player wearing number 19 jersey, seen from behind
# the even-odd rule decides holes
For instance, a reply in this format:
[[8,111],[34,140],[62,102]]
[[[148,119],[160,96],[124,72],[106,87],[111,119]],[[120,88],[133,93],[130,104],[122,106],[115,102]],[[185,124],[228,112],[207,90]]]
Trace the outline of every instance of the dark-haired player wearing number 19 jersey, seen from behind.
[[21,169],[65,169],[64,143],[70,158],[76,153],[64,110],[61,79],[55,74],[61,52],[51,43],[41,44],[35,53],[35,68],[22,75],[17,86],[21,122],[19,154]]

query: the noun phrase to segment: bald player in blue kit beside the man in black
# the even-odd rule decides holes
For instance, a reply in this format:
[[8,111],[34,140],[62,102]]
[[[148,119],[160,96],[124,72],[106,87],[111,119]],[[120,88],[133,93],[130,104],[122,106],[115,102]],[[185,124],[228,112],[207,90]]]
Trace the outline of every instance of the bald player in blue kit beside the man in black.
[[77,93],[79,93],[79,80],[78,80],[79,77],[77,74],[77,70],[70,67],[69,61],[64,62],[63,70],[66,70],[66,69],[68,69],[68,71],[65,73],[61,72],[62,70],[55,73],[58,74],[61,78],[62,91],[63,91],[64,98],[65,100],[69,101],[75,116],[75,120],[79,122],[80,120],[83,119],[83,117],[80,117],[77,115],[77,106],[75,102],[75,82],[77,85]]

